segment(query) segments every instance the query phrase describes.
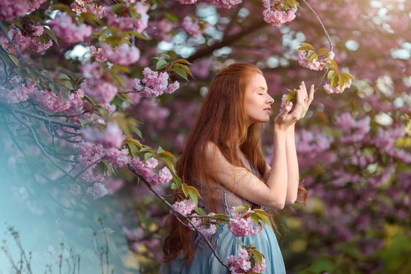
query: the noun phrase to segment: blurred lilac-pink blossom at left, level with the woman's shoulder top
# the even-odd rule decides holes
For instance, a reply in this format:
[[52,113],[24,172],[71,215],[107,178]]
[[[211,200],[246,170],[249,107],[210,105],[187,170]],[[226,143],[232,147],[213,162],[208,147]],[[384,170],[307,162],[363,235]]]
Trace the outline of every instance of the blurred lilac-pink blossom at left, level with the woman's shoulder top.
[[123,132],[115,122],[108,122],[102,132],[97,128],[90,127],[82,128],[80,132],[84,140],[101,144],[105,149],[119,148],[123,145]]

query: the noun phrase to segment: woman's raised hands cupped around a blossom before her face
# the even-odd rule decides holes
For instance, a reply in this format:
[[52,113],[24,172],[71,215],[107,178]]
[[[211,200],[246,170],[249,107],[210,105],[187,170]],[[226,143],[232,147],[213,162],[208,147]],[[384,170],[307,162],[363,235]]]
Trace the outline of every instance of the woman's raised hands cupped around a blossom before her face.
[[314,85],[310,88],[310,95],[307,94],[306,84],[301,82],[297,91],[297,99],[295,105],[288,103],[282,112],[279,112],[274,119],[274,129],[286,131],[290,125],[299,121],[306,116],[308,107],[314,99]]

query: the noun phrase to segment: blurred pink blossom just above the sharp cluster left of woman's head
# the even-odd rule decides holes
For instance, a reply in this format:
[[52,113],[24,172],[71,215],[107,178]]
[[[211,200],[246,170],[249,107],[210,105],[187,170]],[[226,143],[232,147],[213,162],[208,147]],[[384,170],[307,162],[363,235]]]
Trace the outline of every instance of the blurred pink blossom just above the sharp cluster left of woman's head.
[[114,64],[129,66],[130,64],[136,63],[138,59],[140,59],[140,49],[137,49],[135,46],[129,46],[125,43],[116,49],[112,49],[112,47],[108,44],[103,44],[101,49],[103,49],[103,54],[105,57]]

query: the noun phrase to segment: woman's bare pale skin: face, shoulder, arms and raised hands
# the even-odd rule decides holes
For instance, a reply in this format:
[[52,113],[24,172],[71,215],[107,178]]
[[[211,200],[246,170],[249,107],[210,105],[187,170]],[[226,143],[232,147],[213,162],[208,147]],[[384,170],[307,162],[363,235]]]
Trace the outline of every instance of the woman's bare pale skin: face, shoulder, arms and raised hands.
[[[245,111],[248,125],[268,123],[273,97],[267,93],[264,77],[258,73],[251,76],[246,88]],[[306,115],[308,107],[314,99],[314,85],[308,94],[306,85],[301,82],[297,92],[295,107],[286,105],[274,120],[273,162],[266,163],[269,175],[264,184],[248,168],[248,160],[238,148],[244,167],[234,166],[225,159],[218,147],[208,143],[206,158],[213,163],[210,166],[215,179],[236,195],[266,208],[281,210],[297,200],[299,184],[299,167],[295,149],[295,123]]]

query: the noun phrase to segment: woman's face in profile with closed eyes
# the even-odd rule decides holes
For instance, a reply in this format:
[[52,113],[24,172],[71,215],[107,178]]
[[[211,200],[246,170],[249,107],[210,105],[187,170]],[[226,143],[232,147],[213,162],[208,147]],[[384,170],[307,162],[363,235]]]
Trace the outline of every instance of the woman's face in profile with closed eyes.
[[245,90],[245,113],[249,125],[253,123],[268,123],[271,114],[273,97],[267,93],[267,83],[259,73],[253,74]]

